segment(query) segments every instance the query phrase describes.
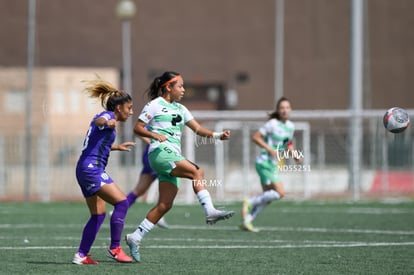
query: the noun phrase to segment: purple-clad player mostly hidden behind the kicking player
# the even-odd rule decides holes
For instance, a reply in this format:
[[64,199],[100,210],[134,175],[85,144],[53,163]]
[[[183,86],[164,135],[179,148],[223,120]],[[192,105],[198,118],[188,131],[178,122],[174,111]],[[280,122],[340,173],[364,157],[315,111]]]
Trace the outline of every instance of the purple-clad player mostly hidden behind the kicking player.
[[[157,179],[157,173],[155,173],[155,171],[151,168],[148,160],[150,139],[145,137],[141,137],[141,139],[145,142],[145,148],[142,153],[143,167],[137,185],[134,190],[127,195],[129,207],[131,207],[139,197],[144,197],[148,189],[151,187],[151,184]],[[161,228],[169,227],[164,217],[161,217],[161,219],[157,222],[157,225]]]

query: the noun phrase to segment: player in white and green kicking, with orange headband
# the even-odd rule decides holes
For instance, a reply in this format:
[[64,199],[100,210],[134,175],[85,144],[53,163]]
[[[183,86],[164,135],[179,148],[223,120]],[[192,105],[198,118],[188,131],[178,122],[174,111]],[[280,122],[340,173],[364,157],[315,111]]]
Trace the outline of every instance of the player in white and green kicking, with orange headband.
[[[230,131],[213,132],[202,127],[190,111],[178,103],[184,96],[184,81],[175,72],[165,72],[156,77],[148,89],[151,101],[145,105],[134,132],[151,139],[149,161],[159,179],[159,200],[146,218],[132,234],[126,235],[126,242],[135,261],[141,260],[139,247],[142,238],[151,231],[159,219],[172,207],[179,188],[179,178],[193,181],[193,190],[204,208],[206,222],[214,224],[233,216],[234,211],[217,210],[204,184],[204,171],[181,155],[181,135],[184,126],[190,127],[197,135],[227,140]],[[148,128],[148,129],[147,129]]]

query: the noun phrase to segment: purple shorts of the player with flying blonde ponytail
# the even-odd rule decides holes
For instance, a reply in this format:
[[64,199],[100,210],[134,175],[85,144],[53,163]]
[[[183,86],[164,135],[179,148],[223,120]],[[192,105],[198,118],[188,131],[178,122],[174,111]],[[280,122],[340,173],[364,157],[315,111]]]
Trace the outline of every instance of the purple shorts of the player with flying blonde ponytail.
[[85,198],[95,195],[105,184],[111,184],[113,180],[104,169],[78,165],[76,178]]

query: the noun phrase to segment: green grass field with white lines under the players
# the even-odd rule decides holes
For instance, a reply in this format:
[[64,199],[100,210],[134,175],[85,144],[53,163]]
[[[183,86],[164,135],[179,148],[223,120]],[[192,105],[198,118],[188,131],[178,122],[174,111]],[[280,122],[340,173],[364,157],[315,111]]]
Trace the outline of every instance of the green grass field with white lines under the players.
[[[0,273],[414,274],[414,201],[279,201],[256,219],[259,233],[238,229],[240,206],[226,205],[237,214],[213,226],[200,206],[174,206],[166,216],[171,228],[146,236],[139,264],[105,256],[107,217],[91,250],[100,264],[78,266],[71,260],[88,218],[83,203],[2,203]],[[150,207],[135,204],[124,232]]]

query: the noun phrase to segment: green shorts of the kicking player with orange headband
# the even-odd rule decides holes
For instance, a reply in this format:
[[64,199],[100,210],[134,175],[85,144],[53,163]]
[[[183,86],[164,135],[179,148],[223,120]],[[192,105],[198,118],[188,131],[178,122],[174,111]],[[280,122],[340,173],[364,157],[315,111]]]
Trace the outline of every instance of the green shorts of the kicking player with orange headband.
[[160,144],[155,150],[148,154],[148,159],[151,168],[157,173],[159,181],[170,182],[177,188],[180,187],[179,178],[171,176],[170,173],[175,168],[176,162],[185,159],[183,156],[177,154],[168,146]]

